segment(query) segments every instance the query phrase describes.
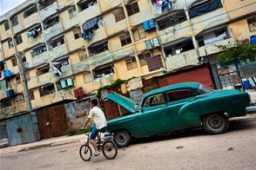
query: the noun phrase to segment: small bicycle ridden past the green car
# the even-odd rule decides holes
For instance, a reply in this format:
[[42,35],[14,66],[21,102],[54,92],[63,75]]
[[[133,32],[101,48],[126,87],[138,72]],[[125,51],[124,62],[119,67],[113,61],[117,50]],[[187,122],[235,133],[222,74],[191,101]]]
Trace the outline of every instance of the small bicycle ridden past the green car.
[[[79,149],[79,154],[82,160],[89,161],[92,157],[92,151],[90,147],[89,134],[86,132],[86,128],[82,128],[84,130],[85,136],[87,136],[87,140],[84,145],[82,145]],[[104,157],[108,160],[113,160],[118,155],[118,147],[112,141],[112,135],[110,133],[104,133],[104,141],[101,140],[102,132],[99,132],[98,140],[96,140],[98,151],[104,154]]]

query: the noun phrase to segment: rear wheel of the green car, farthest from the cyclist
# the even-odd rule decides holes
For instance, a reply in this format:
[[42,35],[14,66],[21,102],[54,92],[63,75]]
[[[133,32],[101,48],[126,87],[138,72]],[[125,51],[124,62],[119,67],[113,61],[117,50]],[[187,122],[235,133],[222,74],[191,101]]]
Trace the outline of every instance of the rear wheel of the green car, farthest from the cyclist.
[[203,117],[203,127],[209,134],[226,133],[229,121],[224,114],[209,114]]

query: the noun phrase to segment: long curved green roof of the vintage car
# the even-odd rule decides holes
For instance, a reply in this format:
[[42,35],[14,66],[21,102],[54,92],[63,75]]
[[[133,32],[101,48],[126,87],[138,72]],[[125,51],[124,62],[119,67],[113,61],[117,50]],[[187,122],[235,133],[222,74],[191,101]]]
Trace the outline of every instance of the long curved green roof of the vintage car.
[[170,86],[165,86],[163,88],[154,89],[154,90],[146,93],[145,95],[143,95],[143,98],[145,98],[149,95],[159,94],[163,91],[175,90],[175,89],[180,89],[180,88],[199,88],[199,85],[200,85],[199,82],[182,82],[182,83],[178,83],[178,84],[173,84]]

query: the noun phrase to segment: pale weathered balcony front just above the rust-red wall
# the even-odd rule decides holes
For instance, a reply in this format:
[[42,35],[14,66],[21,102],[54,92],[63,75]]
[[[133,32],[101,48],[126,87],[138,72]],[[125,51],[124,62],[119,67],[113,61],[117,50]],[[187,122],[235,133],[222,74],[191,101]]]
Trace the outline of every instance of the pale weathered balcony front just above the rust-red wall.
[[191,49],[174,56],[167,56],[165,63],[168,70],[184,68],[197,65],[198,56],[195,49]]

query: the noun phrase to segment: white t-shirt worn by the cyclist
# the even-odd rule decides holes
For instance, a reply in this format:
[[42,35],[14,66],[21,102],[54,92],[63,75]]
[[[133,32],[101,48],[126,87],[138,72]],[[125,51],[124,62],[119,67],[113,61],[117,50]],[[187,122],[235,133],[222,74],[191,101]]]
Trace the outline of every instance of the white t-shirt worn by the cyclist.
[[106,127],[106,119],[104,117],[103,111],[98,107],[91,108],[88,118],[93,119],[96,127],[101,129],[102,127]]

